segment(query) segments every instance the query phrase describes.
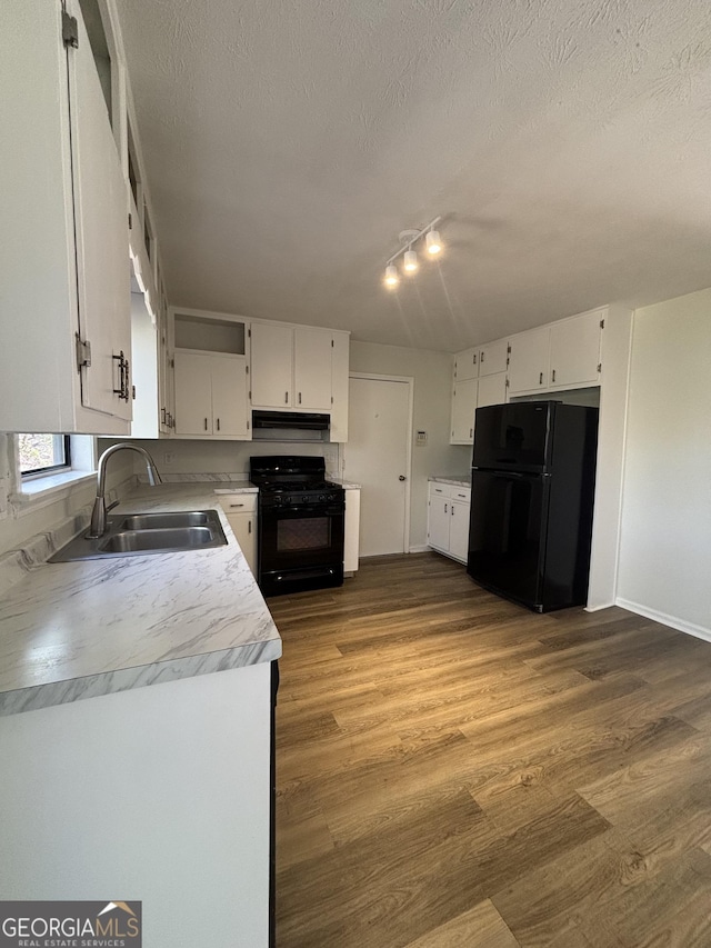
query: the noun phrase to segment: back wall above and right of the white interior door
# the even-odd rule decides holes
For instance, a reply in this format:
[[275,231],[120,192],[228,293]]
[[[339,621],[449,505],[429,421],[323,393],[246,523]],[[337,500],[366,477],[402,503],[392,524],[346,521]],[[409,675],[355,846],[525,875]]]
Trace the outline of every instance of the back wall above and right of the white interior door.
[[[427,479],[437,475],[468,475],[471,448],[449,443],[452,358],[444,352],[379,346],[351,340],[352,372],[411,376],[414,379],[414,432],[428,433],[425,447],[412,443],[410,549],[427,545]],[[348,443],[343,447],[348,456]],[[367,502],[367,498],[362,498]]]

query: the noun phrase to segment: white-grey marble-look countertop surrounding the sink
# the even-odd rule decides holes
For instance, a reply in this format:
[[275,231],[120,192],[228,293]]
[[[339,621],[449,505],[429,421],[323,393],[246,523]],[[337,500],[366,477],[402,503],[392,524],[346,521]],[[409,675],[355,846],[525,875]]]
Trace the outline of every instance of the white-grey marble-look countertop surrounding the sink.
[[208,508],[227,546],[41,563],[11,586],[0,598],[0,715],[279,658],[213,483],[141,485],[111,512]]

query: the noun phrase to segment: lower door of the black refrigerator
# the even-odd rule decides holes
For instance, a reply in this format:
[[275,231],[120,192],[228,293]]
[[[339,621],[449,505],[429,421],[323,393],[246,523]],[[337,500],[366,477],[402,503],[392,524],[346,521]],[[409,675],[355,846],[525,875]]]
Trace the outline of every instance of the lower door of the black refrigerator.
[[472,470],[467,571],[481,586],[542,607],[545,476]]

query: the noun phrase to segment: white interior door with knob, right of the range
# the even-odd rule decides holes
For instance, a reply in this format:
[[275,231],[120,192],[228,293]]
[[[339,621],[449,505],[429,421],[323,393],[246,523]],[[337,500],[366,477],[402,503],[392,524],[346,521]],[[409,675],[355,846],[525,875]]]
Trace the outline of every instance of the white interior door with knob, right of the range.
[[409,546],[411,381],[352,376],[346,478],[361,485],[361,557]]

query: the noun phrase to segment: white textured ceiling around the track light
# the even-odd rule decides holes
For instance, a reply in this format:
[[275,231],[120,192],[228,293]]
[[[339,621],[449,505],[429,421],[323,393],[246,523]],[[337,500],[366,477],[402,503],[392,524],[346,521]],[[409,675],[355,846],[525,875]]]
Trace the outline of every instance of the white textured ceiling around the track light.
[[708,0],[118,7],[171,302],[454,351],[711,285]]

